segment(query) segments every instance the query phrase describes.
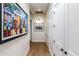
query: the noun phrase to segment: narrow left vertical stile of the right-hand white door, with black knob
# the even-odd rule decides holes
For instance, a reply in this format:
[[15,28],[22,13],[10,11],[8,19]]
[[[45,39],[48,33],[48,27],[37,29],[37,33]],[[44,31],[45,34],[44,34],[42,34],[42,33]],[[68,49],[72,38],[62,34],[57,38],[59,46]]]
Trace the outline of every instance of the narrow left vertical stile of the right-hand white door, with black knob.
[[67,50],[68,50],[68,37],[69,37],[69,4],[65,3],[65,46],[64,46],[64,56],[67,56]]

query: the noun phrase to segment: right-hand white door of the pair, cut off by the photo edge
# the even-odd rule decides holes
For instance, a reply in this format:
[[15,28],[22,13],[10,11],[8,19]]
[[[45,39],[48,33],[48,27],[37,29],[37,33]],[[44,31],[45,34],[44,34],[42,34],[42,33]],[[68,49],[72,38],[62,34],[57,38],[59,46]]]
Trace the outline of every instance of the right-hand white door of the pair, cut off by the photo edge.
[[65,49],[68,56],[79,55],[79,3],[65,7]]

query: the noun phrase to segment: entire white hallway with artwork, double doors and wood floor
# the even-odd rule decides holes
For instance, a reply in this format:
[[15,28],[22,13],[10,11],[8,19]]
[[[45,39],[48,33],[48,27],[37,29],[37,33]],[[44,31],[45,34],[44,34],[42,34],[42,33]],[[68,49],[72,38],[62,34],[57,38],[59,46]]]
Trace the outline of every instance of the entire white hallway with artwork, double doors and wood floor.
[[0,56],[79,56],[79,3],[0,3],[0,19]]

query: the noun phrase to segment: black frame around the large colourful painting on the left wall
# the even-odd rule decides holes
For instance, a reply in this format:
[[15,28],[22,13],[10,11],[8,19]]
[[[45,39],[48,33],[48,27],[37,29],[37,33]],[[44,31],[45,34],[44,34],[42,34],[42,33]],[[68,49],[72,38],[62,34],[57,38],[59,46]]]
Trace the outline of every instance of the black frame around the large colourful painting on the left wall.
[[[22,9],[22,7],[18,4],[18,3],[14,3],[14,4],[16,4],[26,15],[27,15],[27,17],[28,17],[28,14]],[[11,38],[7,38],[6,40],[2,40],[3,38],[2,38],[2,3],[0,3],[0,44],[3,44],[3,43],[6,43],[6,42],[8,42],[8,41],[11,41],[11,40],[14,40],[14,39],[16,39],[16,38],[18,38],[18,37],[22,37],[22,36],[24,36],[24,35],[26,35],[26,34],[28,34],[28,31],[26,32],[26,33],[24,33],[24,34],[21,34],[21,35],[17,35],[17,36],[14,36],[14,37],[11,37]],[[27,23],[28,23],[28,21],[27,21]]]

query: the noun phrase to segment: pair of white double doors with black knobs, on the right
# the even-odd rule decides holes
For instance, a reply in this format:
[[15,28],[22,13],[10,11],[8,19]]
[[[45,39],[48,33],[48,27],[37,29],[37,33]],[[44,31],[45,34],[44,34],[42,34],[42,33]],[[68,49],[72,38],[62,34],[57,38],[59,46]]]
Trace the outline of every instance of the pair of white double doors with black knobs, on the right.
[[79,55],[79,3],[60,4],[53,12],[55,55]]

